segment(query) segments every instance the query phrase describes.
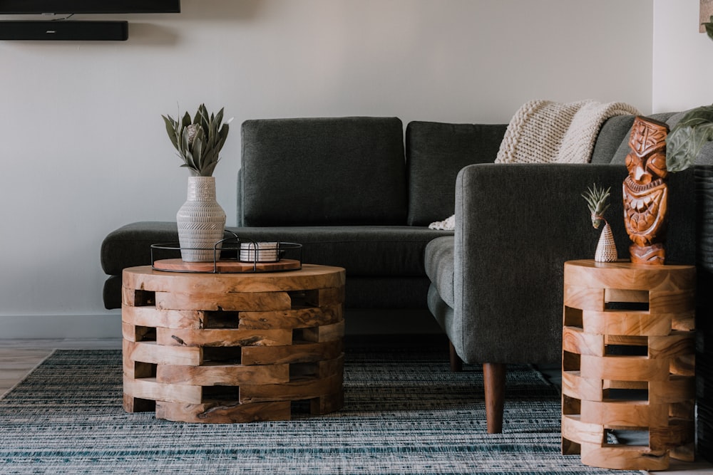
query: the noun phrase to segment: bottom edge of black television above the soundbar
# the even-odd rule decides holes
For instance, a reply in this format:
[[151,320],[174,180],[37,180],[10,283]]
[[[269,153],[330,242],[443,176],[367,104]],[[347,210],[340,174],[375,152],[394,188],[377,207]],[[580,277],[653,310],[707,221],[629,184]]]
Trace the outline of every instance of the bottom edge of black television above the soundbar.
[[4,14],[179,13],[180,0],[0,0]]

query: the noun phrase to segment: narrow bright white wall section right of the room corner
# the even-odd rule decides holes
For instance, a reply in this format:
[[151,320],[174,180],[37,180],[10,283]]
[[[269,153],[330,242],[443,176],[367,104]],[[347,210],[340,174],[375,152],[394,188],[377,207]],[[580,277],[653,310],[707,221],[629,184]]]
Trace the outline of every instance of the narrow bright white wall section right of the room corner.
[[713,103],[713,41],[699,33],[699,0],[654,0],[652,108]]

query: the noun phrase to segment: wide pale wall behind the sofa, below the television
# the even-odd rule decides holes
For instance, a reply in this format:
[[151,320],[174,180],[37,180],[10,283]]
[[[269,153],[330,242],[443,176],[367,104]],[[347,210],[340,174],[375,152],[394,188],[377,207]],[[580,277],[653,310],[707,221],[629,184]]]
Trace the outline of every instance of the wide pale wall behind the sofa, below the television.
[[235,117],[215,172],[229,225],[248,118],[507,122],[534,98],[652,109],[652,0],[183,0],[116,19],[127,42],[0,42],[0,338],[118,335],[99,247],[183,204],[160,119],[179,107]]

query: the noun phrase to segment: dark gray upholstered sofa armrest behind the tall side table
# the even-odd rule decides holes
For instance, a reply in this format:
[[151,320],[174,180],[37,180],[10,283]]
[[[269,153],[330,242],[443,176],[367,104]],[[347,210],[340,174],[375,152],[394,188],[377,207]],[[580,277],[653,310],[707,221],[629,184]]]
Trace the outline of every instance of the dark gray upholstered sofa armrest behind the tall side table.
[[[628,257],[623,165],[470,165],[456,180],[454,325],[471,362],[557,362],[561,358],[563,266],[593,259],[593,229],[580,196],[611,187],[620,259]],[[670,175],[667,262],[694,262],[692,171]],[[453,338],[451,338],[453,340]],[[454,343],[455,344],[455,343]]]

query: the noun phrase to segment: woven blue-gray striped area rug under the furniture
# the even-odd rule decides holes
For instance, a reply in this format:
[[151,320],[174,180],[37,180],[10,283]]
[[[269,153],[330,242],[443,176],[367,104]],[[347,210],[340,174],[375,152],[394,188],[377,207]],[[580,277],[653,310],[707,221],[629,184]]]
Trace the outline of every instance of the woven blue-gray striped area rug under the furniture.
[[0,474],[640,474],[560,454],[560,397],[508,367],[503,434],[482,373],[445,353],[349,348],[345,406],[322,417],[183,424],[127,414],[118,350],[57,350],[0,400]]

